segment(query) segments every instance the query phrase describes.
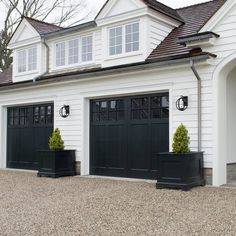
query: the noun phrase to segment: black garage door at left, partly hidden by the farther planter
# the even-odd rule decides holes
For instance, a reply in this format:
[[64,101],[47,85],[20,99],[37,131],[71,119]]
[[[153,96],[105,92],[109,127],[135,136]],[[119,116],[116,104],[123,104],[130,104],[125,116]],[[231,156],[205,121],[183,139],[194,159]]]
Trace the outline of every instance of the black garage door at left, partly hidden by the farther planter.
[[39,149],[48,149],[53,105],[8,108],[7,167],[36,170]]

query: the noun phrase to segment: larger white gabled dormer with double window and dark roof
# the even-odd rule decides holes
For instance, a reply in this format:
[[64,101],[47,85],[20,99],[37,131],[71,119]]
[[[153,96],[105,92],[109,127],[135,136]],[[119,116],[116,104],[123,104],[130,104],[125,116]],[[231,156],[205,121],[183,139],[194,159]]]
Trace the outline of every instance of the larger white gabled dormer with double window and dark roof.
[[156,0],[108,0],[95,20],[102,30],[103,67],[145,61],[183,24],[174,9]]

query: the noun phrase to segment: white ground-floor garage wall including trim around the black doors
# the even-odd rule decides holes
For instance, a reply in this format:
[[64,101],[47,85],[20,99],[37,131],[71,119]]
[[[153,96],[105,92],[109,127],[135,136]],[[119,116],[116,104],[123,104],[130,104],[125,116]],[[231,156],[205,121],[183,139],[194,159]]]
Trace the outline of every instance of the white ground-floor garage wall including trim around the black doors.
[[[203,83],[204,120],[203,120],[203,149],[205,167],[212,167],[212,135],[211,114],[207,106],[211,105],[208,94],[209,80]],[[197,149],[197,81],[188,67],[170,70],[143,70],[117,76],[96,77],[95,79],[77,80],[57,85],[31,87],[15,91],[0,92],[1,109],[11,105],[54,101],[55,127],[61,129],[66,148],[77,150],[77,161],[82,162],[82,174],[89,174],[89,99],[117,95],[135,95],[170,92],[170,146],[172,134],[176,127],[183,122],[191,136],[191,148]],[[189,96],[189,109],[177,111],[175,101],[180,95]],[[67,119],[59,116],[59,108],[63,104],[71,107],[71,115]],[[6,116],[6,109],[5,115]],[[6,132],[6,120],[1,123],[1,137]],[[6,150],[6,143],[1,142],[0,150]],[[2,151],[5,167],[6,153]]]

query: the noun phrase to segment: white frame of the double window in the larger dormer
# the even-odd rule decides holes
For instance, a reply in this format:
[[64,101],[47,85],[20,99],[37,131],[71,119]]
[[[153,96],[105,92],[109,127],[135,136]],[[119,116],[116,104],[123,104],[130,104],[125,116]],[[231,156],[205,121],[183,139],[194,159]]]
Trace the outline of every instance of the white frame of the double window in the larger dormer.
[[[139,24],[139,50],[126,52],[126,26],[133,25],[136,23]],[[118,27],[122,27],[122,53],[110,55],[110,30],[118,28]],[[108,59],[115,59],[115,58],[120,58],[120,57],[124,57],[124,56],[132,56],[132,55],[140,54],[140,52],[141,52],[141,21],[138,20],[138,21],[126,22],[124,24],[119,24],[119,25],[115,25],[115,26],[107,28],[107,46],[106,46],[106,48],[107,48],[107,58]]]

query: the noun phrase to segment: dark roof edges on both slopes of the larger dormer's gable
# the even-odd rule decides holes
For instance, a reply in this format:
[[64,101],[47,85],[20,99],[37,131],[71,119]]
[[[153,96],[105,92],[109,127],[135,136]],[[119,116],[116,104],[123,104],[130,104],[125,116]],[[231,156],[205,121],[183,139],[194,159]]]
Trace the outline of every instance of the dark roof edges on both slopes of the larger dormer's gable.
[[[108,4],[110,0],[107,0],[104,5],[102,6],[101,10],[98,12],[95,19],[100,15],[102,10],[105,8],[105,6]],[[164,15],[167,15],[175,20],[178,20],[180,22],[183,22],[183,19],[179,16],[179,14],[176,12],[175,9],[168,7],[156,0],[141,0],[144,4],[146,4],[149,8],[152,8],[153,10],[156,10]]]

